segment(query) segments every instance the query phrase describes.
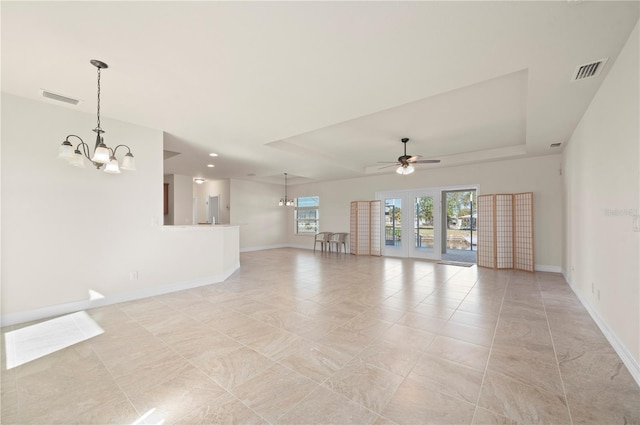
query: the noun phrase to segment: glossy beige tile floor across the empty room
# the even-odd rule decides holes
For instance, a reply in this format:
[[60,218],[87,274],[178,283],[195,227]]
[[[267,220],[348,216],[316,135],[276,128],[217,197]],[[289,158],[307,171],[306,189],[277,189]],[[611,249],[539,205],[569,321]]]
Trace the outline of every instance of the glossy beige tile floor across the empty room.
[[3,356],[2,423],[640,424],[640,389],[559,275],[295,249],[241,264]]

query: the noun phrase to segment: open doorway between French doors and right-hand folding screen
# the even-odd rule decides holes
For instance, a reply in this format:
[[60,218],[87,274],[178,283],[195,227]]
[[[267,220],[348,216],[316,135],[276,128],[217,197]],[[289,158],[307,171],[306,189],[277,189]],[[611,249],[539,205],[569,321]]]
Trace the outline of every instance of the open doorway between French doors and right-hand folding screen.
[[442,191],[444,226],[442,256],[446,261],[476,263],[478,233],[476,229],[476,189]]

